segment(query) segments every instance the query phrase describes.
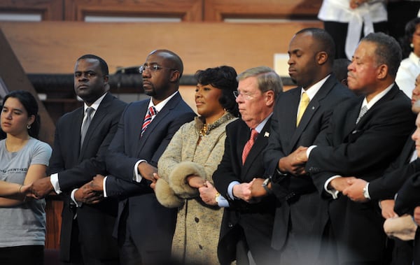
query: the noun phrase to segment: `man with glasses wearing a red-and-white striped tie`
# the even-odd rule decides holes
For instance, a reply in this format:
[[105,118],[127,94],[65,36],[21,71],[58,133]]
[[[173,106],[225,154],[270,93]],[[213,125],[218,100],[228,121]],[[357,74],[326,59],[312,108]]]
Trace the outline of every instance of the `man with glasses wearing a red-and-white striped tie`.
[[119,203],[116,224],[121,264],[125,265],[169,261],[176,208],[162,206],[150,185],[172,136],[195,117],[178,92],[183,73],[178,55],[154,50],[141,66],[141,73],[144,92],[151,99],[125,108],[106,155],[110,174],[97,176],[92,182],[94,189],[104,190],[104,196],[127,197]]

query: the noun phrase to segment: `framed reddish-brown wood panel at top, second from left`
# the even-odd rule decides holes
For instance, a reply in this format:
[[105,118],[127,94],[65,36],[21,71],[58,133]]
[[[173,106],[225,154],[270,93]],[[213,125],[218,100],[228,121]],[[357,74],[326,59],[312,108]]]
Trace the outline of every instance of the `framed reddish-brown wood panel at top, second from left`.
[[84,21],[86,15],[135,17],[179,17],[202,21],[202,0],[64,0],[65,19]]

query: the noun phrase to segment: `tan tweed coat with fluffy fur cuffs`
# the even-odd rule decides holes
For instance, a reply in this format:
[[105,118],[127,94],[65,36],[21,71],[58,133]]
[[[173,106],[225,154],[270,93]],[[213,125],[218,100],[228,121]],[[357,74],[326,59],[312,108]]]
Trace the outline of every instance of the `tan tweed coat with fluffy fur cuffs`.
[[176,132],[159,159],[160,180],[155,193],[163,206],[178,207],[172,256],[183,264],[219,264],[217,245],[223,209],[204,203],[198,189],[186,184],[186,176],[196,173],[213,184],[211,177],[225,148],[225,127],[234,120],[226,113],[207,125],[208,134],[197,145],[203,122],[196,117]]

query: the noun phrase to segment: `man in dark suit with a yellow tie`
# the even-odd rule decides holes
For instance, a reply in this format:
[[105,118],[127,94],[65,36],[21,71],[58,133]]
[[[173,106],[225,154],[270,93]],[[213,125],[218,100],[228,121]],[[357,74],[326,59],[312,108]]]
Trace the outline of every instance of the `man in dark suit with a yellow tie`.
[[[335,45],[323,29],[302,29],[290,41],[289,74],[298,87],[284,92],[276,102],[271,134],[264,152],[269,188],[279,200],[272,246],[281,264],[307,264],[318,258],[328,220],[327,204],[314,183],[295,163],[300,146],[314,143],[327,127],[332,110],[354,96],[332,73]],[[309,97],[302,110],[304,97]],[[299,121],[300,120],[300,121]]]

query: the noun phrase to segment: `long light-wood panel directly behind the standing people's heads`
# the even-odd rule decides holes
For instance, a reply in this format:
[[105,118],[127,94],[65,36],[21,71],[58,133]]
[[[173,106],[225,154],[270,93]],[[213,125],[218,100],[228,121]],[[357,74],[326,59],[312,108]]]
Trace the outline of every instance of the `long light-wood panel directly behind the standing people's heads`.
[[285,53],[290,38],[321,22],[233,23],[85,23],[0,22],[0,27],[27,73],[73,73],[85,53],[103,57],[110,72],[144,63],[149,52],[178,53],[185,73],[228,64],[238,72],[253,66],[273,67],[274,53]]

